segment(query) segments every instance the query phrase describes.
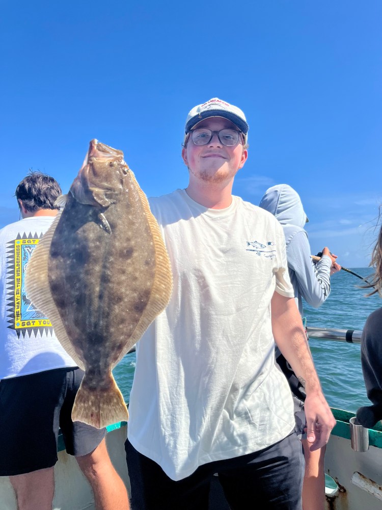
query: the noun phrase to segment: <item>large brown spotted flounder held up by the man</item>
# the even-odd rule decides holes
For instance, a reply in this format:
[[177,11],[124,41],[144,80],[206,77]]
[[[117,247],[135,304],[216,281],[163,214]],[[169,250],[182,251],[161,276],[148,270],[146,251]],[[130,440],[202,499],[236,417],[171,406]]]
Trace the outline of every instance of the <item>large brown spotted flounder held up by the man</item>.
[[172,291],[159,226],[123,152],[90,142],[25,275],[28,297],[85,376],[72,420],[128,419],[112,369],[166,308]]

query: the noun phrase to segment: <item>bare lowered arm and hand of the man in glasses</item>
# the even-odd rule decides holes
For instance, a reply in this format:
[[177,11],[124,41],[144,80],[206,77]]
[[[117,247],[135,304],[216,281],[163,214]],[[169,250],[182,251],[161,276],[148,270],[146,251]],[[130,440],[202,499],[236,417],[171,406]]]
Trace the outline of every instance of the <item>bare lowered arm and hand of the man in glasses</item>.
[[301,316],[294,299],[277,292],[272,297],[271,313],[275,341],[307,393],[305,415],[308,442],[312,443],[312,451],[318,450],[328,443],[336,420],[323,396]]

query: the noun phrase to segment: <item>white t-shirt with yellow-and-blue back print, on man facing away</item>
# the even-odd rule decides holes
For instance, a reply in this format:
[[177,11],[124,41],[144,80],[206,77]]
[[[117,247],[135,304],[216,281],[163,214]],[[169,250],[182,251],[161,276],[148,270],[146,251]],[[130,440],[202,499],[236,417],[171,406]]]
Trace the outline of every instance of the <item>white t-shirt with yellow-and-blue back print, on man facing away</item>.
[[0,230],[0,379],[76,366],[24,289],[25,266],[53,220],[24,218]]

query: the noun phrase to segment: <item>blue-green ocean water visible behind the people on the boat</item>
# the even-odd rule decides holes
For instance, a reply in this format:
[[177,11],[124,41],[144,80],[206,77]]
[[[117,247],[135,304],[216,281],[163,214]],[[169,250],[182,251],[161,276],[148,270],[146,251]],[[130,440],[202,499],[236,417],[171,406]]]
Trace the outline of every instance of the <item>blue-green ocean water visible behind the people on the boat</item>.
[[[360,276],[371,273],[370,268],[355,268]],[[362,329],[367,317],[382,307],[378,295],[364,297],[362,280],[340,271],[331,278],[331,294],[323,305],[314,309],[304,306],[308,326]],[[360,345],[329,340],[310,339],[313,360],[326,399],[332,407],[355,412],[370,402],[366,396],[362,376]],[[126,354],[113,370],[125,401],[128,402],[135,368],[135,352]]]

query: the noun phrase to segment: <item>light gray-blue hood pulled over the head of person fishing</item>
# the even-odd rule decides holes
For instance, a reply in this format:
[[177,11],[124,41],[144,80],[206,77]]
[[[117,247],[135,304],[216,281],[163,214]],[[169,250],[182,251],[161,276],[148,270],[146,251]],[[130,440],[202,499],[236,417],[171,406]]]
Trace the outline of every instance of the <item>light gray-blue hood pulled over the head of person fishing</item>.
[[301,198],[287,184],[268,188],[259,206],[273,214],[282,225],[290,224],[304,228],[308,221]]

